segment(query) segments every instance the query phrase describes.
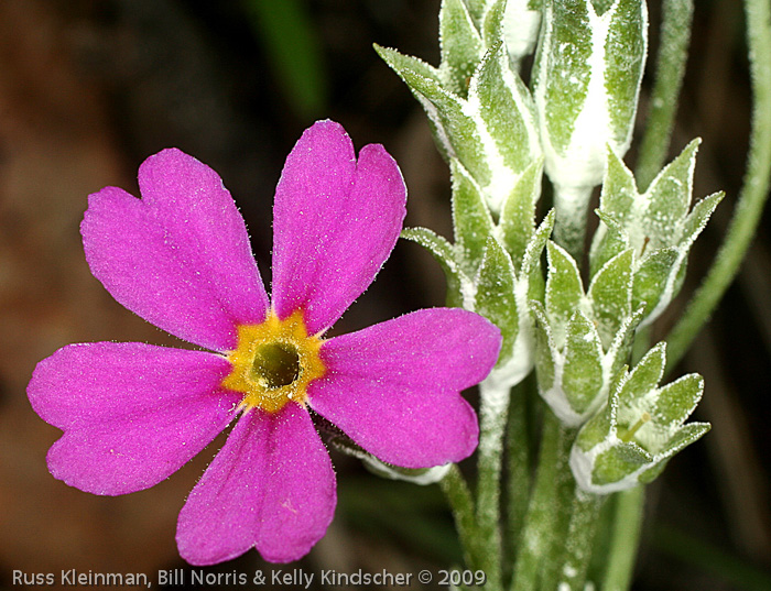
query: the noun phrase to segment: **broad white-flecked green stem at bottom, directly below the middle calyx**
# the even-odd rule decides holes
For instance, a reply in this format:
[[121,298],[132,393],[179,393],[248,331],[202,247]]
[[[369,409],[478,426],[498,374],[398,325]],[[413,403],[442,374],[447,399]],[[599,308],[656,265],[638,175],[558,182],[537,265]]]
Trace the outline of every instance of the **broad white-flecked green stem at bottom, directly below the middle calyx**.
[[572,492],[567,457],[574,435],[553,413],[545,413],[535,485],[520,537],[512,591],[541,589],[542,577],[551,578],[545,569],[554,568],[561,557],[560,535],[566,530],[569,518],[569,504],[565,507],[563,493],[566,489]]

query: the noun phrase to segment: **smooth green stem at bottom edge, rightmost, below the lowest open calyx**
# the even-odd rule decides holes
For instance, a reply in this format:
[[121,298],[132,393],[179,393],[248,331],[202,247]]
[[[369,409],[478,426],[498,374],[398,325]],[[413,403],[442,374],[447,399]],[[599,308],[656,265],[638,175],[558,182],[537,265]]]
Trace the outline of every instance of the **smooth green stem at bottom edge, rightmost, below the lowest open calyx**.
[[618,493],[602,591],[627,591],[632,581],[634,558],[642,532],[645,488]]

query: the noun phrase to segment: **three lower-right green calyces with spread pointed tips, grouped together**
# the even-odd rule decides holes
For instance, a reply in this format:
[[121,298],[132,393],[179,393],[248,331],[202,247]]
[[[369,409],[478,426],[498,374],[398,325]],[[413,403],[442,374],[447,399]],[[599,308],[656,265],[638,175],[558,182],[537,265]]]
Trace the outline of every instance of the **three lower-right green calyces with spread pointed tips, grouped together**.
[[[651,350],[632,372],[638,377],[627,379],[623,369],[636,330],[659,317],[677,294],[688,251],[723,197],[715,194],[691,207],[697,146],[698,141],[691,142],[643,194],[632,173],[607,149],[601,221],[589,253],[586,292],[575,260],[561,247],[547,245],[545,299],[531,302],[539,391],[565,426],[584,425],[571,466],[590,492],[615,492],[652,479],[672,453],[706,433],[703,426],[688,426],[682,434],[673,430],[695,407],[702,382],[688,376],[656,388],[663,375],[663,346]],[[641,381],[645,368],[659,368],[649,371],[652,381]],[[666,404],[675,404],[673,395],[678,406],[676,413],[670,411],[682,420],[669,422],[663,429],[662,420],[670,415],[662,414],[656,401],[664,396]],[[598,429],[606,429],[601,441]],[[694,433],[698,435],[684,435]],[[613,480],[610,473],[621,464],[625,475]]]

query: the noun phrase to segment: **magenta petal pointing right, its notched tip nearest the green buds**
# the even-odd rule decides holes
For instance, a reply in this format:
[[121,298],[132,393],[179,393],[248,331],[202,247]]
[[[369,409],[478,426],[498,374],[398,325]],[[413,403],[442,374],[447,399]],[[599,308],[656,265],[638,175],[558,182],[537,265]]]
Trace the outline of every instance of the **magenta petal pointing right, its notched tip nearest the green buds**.
[[377,458],[405,468],[460,461],[479,428],[459,392],[490,372],[500,331],[476,314],[419,310],[326,341],[308,404]]

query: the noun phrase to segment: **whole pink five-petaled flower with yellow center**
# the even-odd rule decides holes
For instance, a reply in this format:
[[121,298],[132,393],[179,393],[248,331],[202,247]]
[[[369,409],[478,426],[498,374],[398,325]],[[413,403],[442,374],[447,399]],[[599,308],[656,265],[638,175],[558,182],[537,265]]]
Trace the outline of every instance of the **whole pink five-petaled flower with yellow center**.
[[130,310],[213,352],[95,342],[41,361],[28,393],[64,431],[47,456],[55,478],[95,494],[148,489],[239,417],[180,513],[180,552],[210,565],[256,547],[285,562],[324,536],[335,510],[311,413],[395,466],[474,451],[477,418],[459,392],[496,362],[490,322],[435,308],[322,338],[402,228],[405,187],[382,146],[357,162],[339,124],[305,131],[275,194],[272,300],[214,171],[164,150],[139,185],[142,199],[116,187],[90,196],[80,230],[91,272]]

